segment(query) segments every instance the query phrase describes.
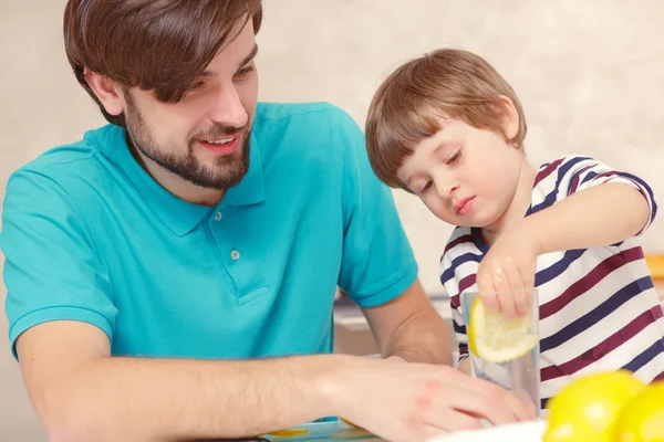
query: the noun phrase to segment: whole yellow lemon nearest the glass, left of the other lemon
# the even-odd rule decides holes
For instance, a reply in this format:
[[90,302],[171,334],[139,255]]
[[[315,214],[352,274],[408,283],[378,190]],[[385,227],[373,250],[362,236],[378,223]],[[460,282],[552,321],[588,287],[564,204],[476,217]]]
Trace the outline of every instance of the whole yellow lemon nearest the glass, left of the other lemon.
[[544,442],[615,442],[615,419],[645,388],[630,371],[596,372],[575,379],[548,403]]

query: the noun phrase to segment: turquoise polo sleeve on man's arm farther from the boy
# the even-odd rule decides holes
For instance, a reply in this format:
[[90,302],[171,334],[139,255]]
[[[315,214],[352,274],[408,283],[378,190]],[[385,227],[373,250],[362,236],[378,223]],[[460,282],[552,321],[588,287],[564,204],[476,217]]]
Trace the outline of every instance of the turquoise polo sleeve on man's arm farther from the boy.
[[80,320],[113,337],[117,309],[105,266],[70,193],[44,173],[21,169],[8,182],[0,246],[6,313],[17,338],[52,320]]

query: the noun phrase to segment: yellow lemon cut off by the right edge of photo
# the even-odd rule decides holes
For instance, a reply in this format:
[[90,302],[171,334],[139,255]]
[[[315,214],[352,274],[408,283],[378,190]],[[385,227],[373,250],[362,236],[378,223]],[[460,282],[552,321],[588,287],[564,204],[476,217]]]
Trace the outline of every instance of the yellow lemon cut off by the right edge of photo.
[[615,422],[615,442],[664,442],[664,381],[627,402]]

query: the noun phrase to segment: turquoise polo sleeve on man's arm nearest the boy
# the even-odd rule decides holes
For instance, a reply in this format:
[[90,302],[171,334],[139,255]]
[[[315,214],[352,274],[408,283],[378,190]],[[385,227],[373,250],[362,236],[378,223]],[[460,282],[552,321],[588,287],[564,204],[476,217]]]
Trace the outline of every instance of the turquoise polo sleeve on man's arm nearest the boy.
[[417,278],[417,263],[390,188],[369,164],[364,135],[342,110],[334,114],[343,149],[344,240],[339,286],[361,307],[385,304]]

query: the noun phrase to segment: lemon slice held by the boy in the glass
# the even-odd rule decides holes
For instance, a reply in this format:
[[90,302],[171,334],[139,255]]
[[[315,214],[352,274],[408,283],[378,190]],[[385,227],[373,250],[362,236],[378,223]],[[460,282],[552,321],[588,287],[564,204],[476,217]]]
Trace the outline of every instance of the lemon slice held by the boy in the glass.
[[539,336],[529,328],[530,317],[508,320],[500,312],[486,308],[478,297],[470,307],[468,345],[475,356],[487,362],[508,362],[539,344]]

